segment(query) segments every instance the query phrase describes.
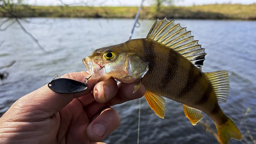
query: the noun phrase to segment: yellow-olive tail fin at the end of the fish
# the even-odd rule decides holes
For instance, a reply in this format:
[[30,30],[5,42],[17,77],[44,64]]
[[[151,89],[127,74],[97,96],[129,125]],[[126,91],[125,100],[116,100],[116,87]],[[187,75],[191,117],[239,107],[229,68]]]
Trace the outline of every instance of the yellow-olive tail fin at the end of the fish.
[[[216,124],[215,124],[216,125]],[[242,135],[233,121],[228,121],[223,125],[216,125],[221,144],[228,144],[229,139],[242,140]]]

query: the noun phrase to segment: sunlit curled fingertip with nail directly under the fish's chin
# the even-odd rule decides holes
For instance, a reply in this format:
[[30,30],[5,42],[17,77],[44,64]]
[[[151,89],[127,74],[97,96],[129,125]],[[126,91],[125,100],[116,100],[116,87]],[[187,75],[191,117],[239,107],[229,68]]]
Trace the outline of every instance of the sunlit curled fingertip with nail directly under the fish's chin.
[[105,103],[116,95],[117,90],[116,80],[110,78],[97,83],[93,88],[93,95],[97,102]]

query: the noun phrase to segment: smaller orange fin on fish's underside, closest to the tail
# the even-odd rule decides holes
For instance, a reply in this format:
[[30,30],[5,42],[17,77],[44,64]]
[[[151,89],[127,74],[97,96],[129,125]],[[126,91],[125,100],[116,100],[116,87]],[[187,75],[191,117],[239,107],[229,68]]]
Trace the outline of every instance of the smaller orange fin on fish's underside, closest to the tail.
[[192,125],[196,125],[203,118],[201,110],[191,108],[185,104],[183,104],[183,109],[185,116],[188,117]]

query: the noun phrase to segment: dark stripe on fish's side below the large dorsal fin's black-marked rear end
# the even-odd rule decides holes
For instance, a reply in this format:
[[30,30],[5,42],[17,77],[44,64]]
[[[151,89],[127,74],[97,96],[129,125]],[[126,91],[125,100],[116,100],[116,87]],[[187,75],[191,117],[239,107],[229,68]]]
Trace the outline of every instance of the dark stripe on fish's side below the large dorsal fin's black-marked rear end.
[[180,91],[178,98],[182,98],[183,96],[187,95],[196,86],[196,83],[198,83],[200,78],[202,77],[201,72],[195,72],[194,70],[195,68],[196,67],[194,67],[194,65],[190,64],[190,68],[188,71],[187,84]]

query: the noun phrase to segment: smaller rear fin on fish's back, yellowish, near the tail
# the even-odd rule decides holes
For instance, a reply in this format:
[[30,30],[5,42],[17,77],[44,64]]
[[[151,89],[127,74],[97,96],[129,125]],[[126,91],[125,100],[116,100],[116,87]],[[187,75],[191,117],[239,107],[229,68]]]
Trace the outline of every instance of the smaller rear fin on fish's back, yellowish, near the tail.
[[217,100],[223,103],[227,102],[229,93],[228,72],[216,71],[204,74],[212,84]]

